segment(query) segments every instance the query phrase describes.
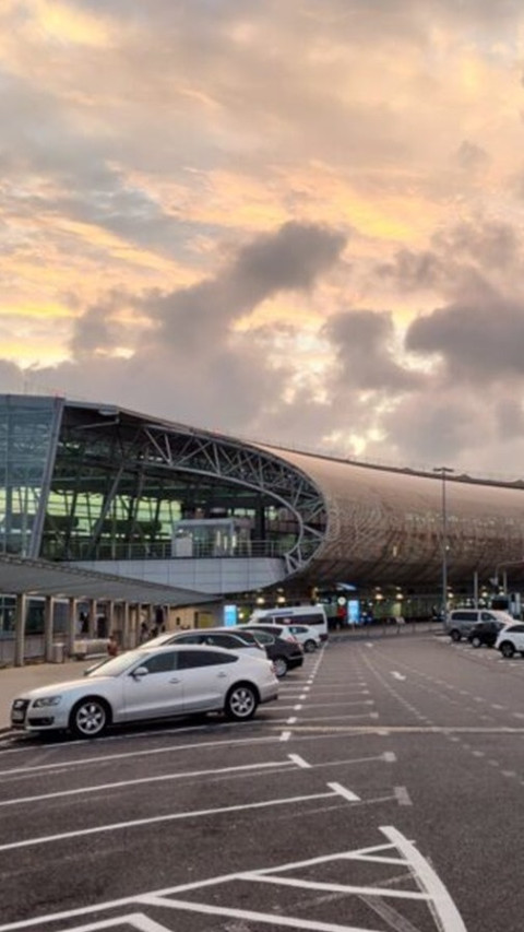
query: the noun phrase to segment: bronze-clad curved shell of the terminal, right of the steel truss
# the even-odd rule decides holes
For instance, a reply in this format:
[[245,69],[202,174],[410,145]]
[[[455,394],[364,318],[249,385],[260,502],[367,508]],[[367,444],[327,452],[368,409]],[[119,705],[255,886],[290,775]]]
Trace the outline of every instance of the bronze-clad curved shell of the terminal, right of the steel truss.
[[[267,448],[275,452],[275,448]],[[324,539],[311,580],[355,585],[434,585],[442,564],[445,492],[449,582],[486,581],[504,563],[524,579],[524,488],[465,476],[415,473],[279,450],[321,491]],[[519,563],[522,567],[519,567]]]

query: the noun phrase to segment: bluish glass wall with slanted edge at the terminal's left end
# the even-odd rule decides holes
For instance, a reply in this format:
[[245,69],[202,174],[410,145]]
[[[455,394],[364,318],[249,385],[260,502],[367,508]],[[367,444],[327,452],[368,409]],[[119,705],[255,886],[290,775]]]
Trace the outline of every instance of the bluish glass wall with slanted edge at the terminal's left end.
[[36,556],[62,403],[0,396],[0,552]]

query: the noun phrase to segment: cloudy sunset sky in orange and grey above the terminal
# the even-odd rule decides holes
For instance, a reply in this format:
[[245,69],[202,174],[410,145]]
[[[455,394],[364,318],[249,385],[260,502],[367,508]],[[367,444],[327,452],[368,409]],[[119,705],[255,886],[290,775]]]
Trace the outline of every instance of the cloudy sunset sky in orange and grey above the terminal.
[[524,4],[2,0],[0,391],[524,477]]

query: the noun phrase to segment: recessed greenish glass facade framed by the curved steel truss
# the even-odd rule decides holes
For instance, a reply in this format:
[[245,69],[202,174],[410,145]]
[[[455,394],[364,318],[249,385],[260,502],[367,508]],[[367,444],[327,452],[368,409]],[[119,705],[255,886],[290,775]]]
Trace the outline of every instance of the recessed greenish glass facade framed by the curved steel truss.
[[[159,455],[143,417],[68,403],[39,555],[66,561],[176,557],[174,533],[180,521],[205,528],[226,519],[242,529],[231,538],[229,556],[283,555],[295,544],[297,518],[278,497],[252,483],[242,485],[238,464],[218,465],[196,435],[194,441],[183,433],[166,436],[162,443],[169,444],[168,455]],[[222,468],[229,468],[230,476],[222,475]],[[199,556],[216,556],[215,551],[215,539],[205,539]]]

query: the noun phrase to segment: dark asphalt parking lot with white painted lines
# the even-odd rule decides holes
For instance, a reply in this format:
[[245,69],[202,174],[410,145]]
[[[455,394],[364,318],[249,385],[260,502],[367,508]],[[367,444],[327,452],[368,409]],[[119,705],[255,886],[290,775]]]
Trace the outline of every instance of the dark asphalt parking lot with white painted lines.
[[5,735],[0,932],[520,932],[523,687],[520,658],[341,635],[247,723]]

